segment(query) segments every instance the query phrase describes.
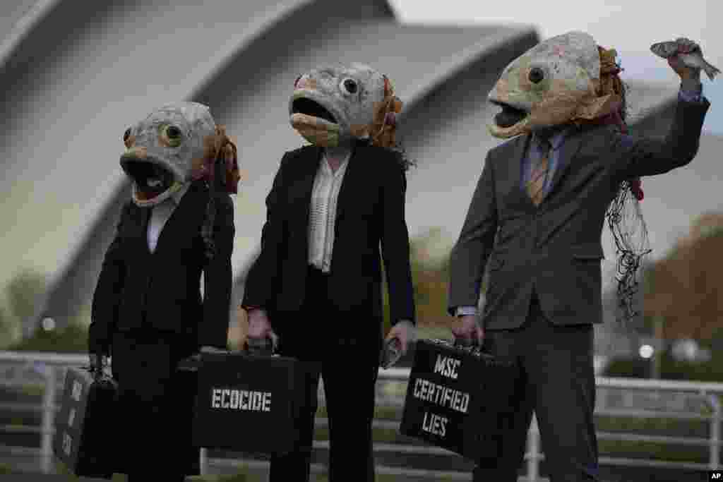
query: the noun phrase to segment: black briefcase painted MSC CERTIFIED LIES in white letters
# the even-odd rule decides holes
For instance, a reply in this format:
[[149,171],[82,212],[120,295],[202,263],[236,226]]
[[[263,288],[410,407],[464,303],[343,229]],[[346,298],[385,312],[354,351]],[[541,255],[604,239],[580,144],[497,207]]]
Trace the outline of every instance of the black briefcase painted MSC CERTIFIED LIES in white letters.
[[471,460],[499,457],[518,367],[476,348],[419,340],[400,431]]

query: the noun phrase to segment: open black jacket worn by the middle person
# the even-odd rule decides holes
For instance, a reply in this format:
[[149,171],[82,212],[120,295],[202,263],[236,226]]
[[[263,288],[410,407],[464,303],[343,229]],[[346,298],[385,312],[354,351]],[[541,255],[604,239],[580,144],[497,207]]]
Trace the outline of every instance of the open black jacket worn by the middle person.
[[[414,322],[406,175],[395,156],[380,147],[360,146],[348,160],[337,200],[329,293],[340,311],[381,319],[381,244],[393,324]],[[321,159],[320,147],[286,152],[266,198],[261,252],[249,270],[242,306],[265,309],[273,325],[293,319],[285,315],[299,311],[304,302],[309,204]]]

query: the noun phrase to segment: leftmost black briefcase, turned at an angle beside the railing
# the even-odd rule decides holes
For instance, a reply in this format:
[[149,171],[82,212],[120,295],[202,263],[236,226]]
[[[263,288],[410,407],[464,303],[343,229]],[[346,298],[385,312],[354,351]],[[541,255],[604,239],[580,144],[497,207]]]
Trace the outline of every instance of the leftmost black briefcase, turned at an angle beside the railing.
[[85,367],[67,369],[61,409],[56,416],[53,451],[74,475],[111,478],[116,382]]

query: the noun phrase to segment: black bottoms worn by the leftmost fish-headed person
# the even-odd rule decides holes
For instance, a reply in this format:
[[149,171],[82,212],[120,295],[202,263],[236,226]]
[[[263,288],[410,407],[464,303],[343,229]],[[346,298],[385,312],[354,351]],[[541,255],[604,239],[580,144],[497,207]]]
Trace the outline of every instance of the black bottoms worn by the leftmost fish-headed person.
[[199,473],[200,450],[192,446],[195,384],[179,373],[181,359],[196,351],[187,337],[155,330],[114,335],[113,375],[118,382],[116,472],[129,481],[183,481]]

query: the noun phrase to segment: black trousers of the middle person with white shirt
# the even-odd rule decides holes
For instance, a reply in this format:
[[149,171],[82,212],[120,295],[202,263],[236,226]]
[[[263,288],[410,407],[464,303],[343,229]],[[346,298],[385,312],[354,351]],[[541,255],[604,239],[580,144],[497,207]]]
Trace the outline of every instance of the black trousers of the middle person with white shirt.
[[338,312],[328,275],[309,268],[301,313],[276,320],[279,351],[301,361],[304,406],[300,444],[271,458],[270,482],[309,481],[319,377],[329,420],[329,481],[374,481],[372,420],[381,348],[380,320]]

